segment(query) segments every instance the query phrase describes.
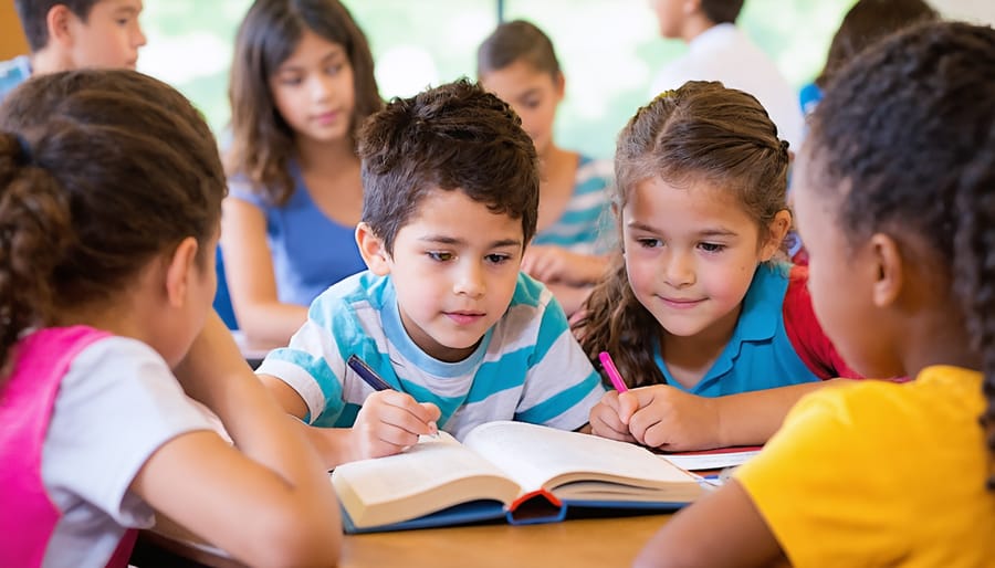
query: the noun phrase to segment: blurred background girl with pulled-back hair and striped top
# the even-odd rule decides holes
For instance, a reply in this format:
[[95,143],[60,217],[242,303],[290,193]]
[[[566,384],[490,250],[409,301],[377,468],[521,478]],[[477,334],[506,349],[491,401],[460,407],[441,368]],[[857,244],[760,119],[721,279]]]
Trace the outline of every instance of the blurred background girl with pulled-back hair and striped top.
[[499,25],[478,49],[476,74],[522,118],[540,157],[538,231],[522,270],[543,281],[573,314],[607,264],[614,236],[606,227],[611,164],[563,149],[553,139],[565,81],[553,43],[532,23]]

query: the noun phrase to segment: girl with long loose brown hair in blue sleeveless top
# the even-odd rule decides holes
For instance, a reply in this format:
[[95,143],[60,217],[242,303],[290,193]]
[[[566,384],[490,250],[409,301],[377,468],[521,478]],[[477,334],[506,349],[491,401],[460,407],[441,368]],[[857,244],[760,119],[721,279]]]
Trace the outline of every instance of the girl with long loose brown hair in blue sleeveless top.
[[383,106],[363,32],[337,0],[256,0],[231,72],[221,246],[238,323],[285,344],[322,291],[366,266],[355,132]]

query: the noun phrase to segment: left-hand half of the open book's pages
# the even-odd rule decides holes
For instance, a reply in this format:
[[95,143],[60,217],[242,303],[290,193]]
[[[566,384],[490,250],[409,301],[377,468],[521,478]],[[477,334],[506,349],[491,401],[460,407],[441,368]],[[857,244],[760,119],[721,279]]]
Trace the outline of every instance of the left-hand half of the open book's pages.
[[475,499],[510,503],[520,493],[503,472],[450,434],[421,436],[396,455],[360,460],[332,472],[338,498],[357,527],[417,518]]

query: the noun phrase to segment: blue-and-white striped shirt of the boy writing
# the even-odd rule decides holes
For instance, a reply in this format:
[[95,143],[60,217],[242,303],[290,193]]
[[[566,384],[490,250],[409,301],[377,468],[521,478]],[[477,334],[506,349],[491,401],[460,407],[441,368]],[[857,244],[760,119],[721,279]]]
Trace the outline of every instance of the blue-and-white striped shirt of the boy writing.
[[258,372],[293,388],[310,423],[345,428],[373,392],[346,366],[354,354],[394,388],[437,404],[439,427],[458,439],[493,420],[576,430],[605,392],[559,304],[524,274],[504,316],[462,361],[422,351],[401,324],[392,280],[367,271],[320,295],[290,346],[270,353]]

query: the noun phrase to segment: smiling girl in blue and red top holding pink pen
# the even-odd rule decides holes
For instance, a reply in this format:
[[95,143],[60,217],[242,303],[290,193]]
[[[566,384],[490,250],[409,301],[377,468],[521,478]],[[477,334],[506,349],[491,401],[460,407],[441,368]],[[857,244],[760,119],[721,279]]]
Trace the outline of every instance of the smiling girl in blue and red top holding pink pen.
[[819,379],[851,376],[805,269],[777,262],[787,143],[756,98],[721,83],[664,92],[615,160],[621,246],[576,330],[640,388],[607,393],[594,433],[666,450],[763,443]]

